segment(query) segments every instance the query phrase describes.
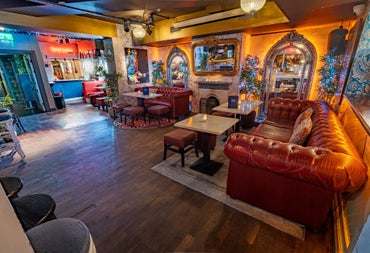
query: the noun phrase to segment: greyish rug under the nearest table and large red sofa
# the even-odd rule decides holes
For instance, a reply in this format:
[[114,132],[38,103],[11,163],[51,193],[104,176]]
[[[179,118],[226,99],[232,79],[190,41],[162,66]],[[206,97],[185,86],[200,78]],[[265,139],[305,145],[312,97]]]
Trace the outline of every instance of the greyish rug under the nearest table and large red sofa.
[[[216,148],[211,152],[212,160],[223,161],[223,166],[213,176],[208,176],[189,168],[190,164],[198,159],[193,151],[186,154],[185,167],[181,167],[181,156],[174,154],[151,169],[242,213],[252,216],[282,232],[300,240],[304,240],[304,226],[251,206],[245,202],[232,199],[226,195],[228,159],[223,153],[224,144],[222,137],[217,138]],[[199,155],[201,156],[202,154],[200,153]]]

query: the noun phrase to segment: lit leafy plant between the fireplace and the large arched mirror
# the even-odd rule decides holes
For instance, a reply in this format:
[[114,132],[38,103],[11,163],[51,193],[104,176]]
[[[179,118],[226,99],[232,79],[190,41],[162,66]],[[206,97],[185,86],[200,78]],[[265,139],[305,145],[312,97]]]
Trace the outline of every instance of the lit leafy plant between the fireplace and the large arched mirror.
[[253,99],[261,99],[266,83],[261,81],[262,69],[257,56],[248,54],[240,71],[240,94],[251,95]]

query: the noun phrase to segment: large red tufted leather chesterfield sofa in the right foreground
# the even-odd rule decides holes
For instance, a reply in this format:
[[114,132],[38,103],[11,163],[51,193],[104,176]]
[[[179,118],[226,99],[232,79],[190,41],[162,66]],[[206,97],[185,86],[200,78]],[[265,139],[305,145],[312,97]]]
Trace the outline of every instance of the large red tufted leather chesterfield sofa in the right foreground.
[[[289,143],[298,115],[313,108],[304,146]],[[367,166],[337,115],[322,101],[273,98],[253,134],[233,133],[224,148],[229,161],[227,194],[320,230],[335,192],[354,192]]]

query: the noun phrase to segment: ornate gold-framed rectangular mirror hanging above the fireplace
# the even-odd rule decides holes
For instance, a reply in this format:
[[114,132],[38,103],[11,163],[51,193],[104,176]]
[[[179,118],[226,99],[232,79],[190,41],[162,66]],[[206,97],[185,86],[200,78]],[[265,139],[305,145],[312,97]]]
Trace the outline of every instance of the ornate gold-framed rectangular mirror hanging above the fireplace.
[[194,74],[235,75],[239,70],[239,47],[237,39],[208,37],[195,42],[192,47]]

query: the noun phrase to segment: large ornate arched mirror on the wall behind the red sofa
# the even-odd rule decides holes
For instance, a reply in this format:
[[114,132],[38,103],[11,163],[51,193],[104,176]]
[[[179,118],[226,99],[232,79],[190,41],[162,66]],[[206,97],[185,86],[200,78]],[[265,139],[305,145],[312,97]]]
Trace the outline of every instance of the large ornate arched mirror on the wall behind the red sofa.
[[268,84],[265,104],[272,97],[307,99],[316,60],[312,43],[296,31],[278,41],[265,58],[263,79]]

